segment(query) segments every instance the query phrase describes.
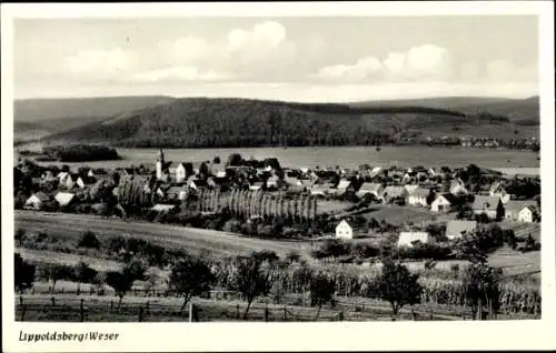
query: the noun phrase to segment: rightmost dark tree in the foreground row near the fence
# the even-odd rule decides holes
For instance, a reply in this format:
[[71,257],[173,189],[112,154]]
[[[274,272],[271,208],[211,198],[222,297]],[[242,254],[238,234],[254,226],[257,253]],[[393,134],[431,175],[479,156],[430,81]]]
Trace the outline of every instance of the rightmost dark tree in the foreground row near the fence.
[[489,307],[490,314],[499,309],[499,286],[502,269],[494,269],[487,263],[471,263],[461,278],[466,304],[471,306],[474,316],[483,319],[483,304]]

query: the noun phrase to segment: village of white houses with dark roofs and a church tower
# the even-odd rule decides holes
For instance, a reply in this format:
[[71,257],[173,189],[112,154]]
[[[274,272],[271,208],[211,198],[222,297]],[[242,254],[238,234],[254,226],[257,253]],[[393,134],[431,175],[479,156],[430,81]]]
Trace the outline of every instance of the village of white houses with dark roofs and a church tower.
[[[428,213],[430,221],[420,222],[420,226],[404,222],[395,228],[399,246],[430,241],[427,225],[433,221],[439,223],[438,220],[444,220],[444,236],[448,240],[471,233],[483,223],[515,225],[540,221],[538,178],[509,178],[473,164],[459,169],[365,164],[358,170],[340,167],[311,170],[282,168],[272,158],[244,160],[239,154],[230,155],[226,163],[215,158],[175,164],[165,160],[162,150],[153,164],[153,170],[140,165],[113,171],[88,168],[71,171],[67,165],[59,169],[21,161],[14,168],[16,209],[117,214],[110,210],[118,209],[110,204],[117,203],[122,185],[133,181],[148,195],[142,210],[148,204],[147,210],[155,214],[175,212],[191,196],[207,192],[241,190],[289,198],[306,195],[318,200],[314,208],[319,210],[314,210],[314,216],[325,213],[328,222],[335,222],[318,235],[344,240],[373,233],[368,226],[358,228],[360,221],[353,221],[360,214],[369,221],[374,213],[366,214],[365,210],[373,205],[390,206],[393,212],[410,208]],[[215,213],[218,206],[201,211]]]

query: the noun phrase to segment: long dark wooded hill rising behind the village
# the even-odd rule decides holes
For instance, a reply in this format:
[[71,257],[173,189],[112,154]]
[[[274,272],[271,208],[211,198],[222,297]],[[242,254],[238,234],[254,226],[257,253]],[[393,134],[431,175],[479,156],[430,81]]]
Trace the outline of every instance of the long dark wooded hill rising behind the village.
[[407,129],[476,122],[475,117],[435,108],[195,98],[118,114],[44,142],[143,148],[374,145]]

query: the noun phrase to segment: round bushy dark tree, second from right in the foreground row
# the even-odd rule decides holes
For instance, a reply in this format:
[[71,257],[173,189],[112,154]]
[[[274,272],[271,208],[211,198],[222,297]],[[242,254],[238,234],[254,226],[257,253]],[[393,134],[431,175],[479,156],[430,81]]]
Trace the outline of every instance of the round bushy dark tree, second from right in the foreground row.
[[378,296],[390,303],[394,316],[404,305],[420,303],[423,288],[418,279],[419,275],[411,274],[404,264],[383,260],[383,270],[375,288]]

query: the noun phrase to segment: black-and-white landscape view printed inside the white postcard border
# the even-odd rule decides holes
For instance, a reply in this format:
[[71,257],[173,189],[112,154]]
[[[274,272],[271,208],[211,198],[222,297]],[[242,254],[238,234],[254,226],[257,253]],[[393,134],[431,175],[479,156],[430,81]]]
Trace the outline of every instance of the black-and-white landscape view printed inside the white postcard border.
[[539,16],[11,21],[14,322],[546,319]]

